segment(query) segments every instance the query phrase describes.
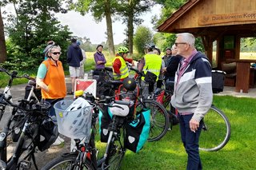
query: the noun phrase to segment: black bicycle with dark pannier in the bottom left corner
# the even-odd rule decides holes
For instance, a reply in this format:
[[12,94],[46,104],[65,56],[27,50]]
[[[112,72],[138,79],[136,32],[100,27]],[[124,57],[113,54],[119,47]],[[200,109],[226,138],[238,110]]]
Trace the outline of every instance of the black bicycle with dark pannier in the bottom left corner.
[[[13,107],[12,116],[14,116],[17,110],[24,115],[24,117],[18,121],[17,125],[14,125],[9,129],[12,121],[11,117],[6,121],[5,132],[1,132],[0,136],[0,168],[2,169],[29,169],[31,168],[31,160],[34,163],[34,167],[38,169],[34,153],[36,148],[40,151],[50,148],[50,145],[54,143],[54,140],[58,137],[57,126],[48,116],[50,109],[50,103],[37,103],[34,99],[27,101],[22,99],[21,105],[15,105],[10,101],[10,97],[6,98],[4,93],[0,93],[0,103],[2,105],[10,105]],[[6,159],[6,138],[11,132],[14,132],[18,125],[22,125],[22,132],[18,136],[17,144],[14,148],[14,153],[10,159]],[[45,140],[41,140],[40,136],[44,136]]]

